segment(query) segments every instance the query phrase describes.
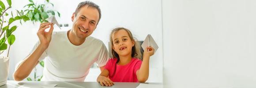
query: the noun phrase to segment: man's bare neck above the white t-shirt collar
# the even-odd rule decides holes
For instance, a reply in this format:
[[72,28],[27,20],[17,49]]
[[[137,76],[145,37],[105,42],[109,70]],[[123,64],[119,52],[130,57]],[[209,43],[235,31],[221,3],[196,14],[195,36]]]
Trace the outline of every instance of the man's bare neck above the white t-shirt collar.
[[72,29],[68,30],[68,40],[76,46],[83,44],[83,42],[85,41],[85,39],[81,39],[75,36],[75,33],[72,32]]

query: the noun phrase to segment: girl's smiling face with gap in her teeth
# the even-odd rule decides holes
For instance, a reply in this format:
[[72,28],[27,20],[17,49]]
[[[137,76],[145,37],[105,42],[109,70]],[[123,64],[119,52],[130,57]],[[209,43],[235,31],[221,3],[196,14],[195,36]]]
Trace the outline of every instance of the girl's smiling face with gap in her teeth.
[[121,29],[113,34],[113,50],[117,52],[119,56],[132,55],[132,47],[134,46],[134,41],[129,37],[129,34]]

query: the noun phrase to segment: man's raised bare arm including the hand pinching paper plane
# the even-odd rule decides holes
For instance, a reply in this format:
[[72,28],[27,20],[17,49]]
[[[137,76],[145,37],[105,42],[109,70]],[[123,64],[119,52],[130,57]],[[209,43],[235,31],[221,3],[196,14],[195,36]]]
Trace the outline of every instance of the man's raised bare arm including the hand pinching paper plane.
[[[49,32],[45,32],[45,29],[49,28]],[[43,52],[48,48],[50,41],[52,39],[52,33],[53,33],[53,23],[44,22],[41,23],[39,30],[37,32],[38,38],[40,40],[40,44],[35,49],[35,51],[30,54],[26,59],[24,59],[19,66],[17,67],[17,70],[15,70],[13,74],[13,78],[15,81],[22,81],[24,78],[26,78],[33,68],[38,64],[38,59],[41,57]]]

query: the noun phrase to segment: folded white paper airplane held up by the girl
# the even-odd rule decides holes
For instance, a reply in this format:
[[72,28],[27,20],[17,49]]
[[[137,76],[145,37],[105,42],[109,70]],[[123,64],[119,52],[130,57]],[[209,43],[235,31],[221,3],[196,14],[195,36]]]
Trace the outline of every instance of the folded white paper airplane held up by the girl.
[[[145,51],[147,49],[147,47],[153,47],[154,48],[154,53],[156,52],[156,50],[158,49],[158,45],[155,43],[153,37],[148,34],[146,39],[144,40],[144,42],[141,44],[141,47],[143,48],[143,50]],[[147,51],[147,50],[146,50]]]

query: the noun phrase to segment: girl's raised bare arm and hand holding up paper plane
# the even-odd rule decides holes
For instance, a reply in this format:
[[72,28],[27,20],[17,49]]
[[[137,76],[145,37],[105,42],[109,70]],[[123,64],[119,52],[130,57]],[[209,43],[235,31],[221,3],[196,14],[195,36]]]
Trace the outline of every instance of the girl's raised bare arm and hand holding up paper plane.
[[147,81],[149,74],[149,57],[154,55],[154,48],[148,47],[147,50],[143,52],[143,61],[139,70],[136,71],[136,76],[139,82]]

